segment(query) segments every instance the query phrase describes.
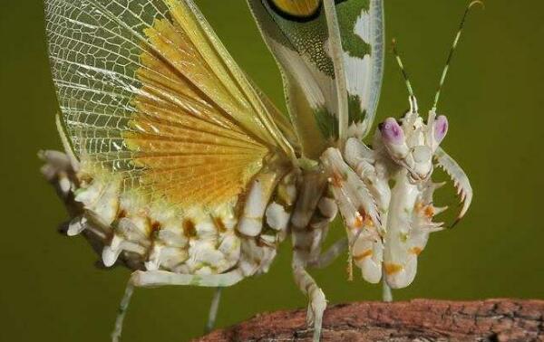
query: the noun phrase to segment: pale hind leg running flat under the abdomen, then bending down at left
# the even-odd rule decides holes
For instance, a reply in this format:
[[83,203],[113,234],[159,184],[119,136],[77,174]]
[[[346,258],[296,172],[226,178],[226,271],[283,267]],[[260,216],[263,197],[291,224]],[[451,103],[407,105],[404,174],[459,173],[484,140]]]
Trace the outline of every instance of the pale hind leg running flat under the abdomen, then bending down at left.
[[[234,285],[242,279],[244,279],[244,275],[238,269],[227,273],[209,274],[204,276],[179,274],[169,271],[134,271],[131,274],[131,279],[129,280],[125,293],[121,299],[119,312],[115,319],[115,328],[112,332],[112,342],[119,342],[119,339],[121,338],[122,322],[129,307],[134,287],[146,288],[164,285],[190,285],[221,288]],[[217,300],[217,304],[219,305],[219,299]],[[212,303],[212,309],[213,305],[214,304]]]

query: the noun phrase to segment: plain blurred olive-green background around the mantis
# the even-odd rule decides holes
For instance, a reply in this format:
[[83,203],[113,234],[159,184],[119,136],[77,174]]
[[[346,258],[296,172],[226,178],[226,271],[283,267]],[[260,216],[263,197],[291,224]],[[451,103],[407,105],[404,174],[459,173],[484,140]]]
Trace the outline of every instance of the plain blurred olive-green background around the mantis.
[[[235,59],[283,105],[277,68],[242,0],[197,1]],[[399,49],[420,107],[428,109],[465,0],[385,0],[387,40]],[[442,96],[449,115],[445,148],[474,188],[466,219],[436,233],[420,258],[413,285],[396,299],[544,299],[541,93],[544,3],[489,0],[466,26]],[[106,341],[129,271],[101,271],[81,238],[56,233],[63,205],[42,179],[36,152],[59,148],[57,103],[46,56],[40,0],[0,2],[0,340]],[[378,118],[407,107],[391,53]],[[452,189],[437,200],[457,210]],[[332,237],[342,236],[335,227]],[[224,291],[219,326],[258,312],[306,306],[289,270],[289,246],[271,271]],[[380,289],[346,280],[345,258],[316,280],[331,304],[379,299]],[[137,290],[124,341],[183,341],[197,337],[212,290]]]

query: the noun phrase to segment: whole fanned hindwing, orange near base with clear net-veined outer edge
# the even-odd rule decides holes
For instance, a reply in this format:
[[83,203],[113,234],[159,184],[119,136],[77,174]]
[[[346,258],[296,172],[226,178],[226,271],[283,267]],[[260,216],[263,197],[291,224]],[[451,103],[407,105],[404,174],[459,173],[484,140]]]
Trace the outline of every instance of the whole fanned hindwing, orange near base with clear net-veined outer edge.
[[47,0],[45,12],[63,124],[83,162],[208,204],[237,195],[270,153],[291,157],[191,2]]

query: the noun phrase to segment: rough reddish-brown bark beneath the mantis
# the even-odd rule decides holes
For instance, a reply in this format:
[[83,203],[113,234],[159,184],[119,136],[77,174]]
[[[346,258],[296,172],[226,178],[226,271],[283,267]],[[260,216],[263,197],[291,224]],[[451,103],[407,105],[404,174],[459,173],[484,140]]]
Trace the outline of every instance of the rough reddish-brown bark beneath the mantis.
[[[199,342],[311,341],[306,309],[258,315]],[[326,309],[322,341],[544,341],[544,300],[360,302]]]

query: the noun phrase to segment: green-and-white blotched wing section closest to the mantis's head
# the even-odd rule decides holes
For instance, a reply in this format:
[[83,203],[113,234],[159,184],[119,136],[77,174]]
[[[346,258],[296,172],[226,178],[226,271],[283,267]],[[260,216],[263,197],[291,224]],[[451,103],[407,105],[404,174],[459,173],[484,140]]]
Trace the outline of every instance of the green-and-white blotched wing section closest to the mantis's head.
[[349,136],[364,138],[378,107],[384,75],[383,0],[336,2],[349,106]]

